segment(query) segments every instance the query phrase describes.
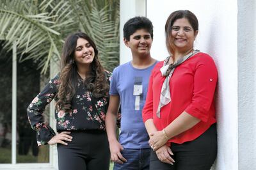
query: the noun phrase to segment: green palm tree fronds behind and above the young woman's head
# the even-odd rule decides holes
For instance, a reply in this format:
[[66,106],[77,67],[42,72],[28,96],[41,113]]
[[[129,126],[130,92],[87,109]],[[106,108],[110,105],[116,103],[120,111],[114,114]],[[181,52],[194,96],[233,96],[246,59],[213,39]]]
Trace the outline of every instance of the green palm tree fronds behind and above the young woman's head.
[[59,61],[64,38],[88,33],[99,49],[102,65],[119,63],[119,0],[1,0],[0,37],[4,48],[17,44],[19,61],[33,59],[42,68]]

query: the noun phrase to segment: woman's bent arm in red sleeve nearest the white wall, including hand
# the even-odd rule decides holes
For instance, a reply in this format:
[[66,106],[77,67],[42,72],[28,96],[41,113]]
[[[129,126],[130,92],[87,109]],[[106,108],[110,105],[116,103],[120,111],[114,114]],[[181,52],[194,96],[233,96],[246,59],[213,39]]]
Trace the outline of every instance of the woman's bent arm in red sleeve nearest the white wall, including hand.
[[209,119],[217,79],[215,63],[205,54],[196,65],[191,104],[162,131],[150,134],[154,136],[150,139],[150,146],[154,146],[154,150],[163,146],[168,139],[194,127],[198,122],[206,122]]

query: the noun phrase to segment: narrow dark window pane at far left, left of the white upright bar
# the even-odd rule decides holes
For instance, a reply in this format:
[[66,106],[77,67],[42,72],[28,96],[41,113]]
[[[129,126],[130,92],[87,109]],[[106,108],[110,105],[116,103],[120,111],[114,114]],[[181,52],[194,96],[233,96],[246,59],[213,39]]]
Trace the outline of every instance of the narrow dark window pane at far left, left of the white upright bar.
[[[3,42],[0,42],[3,45]],[[0,46],[1,49],[3,49]],[[12,52],[0,52],[0,163],[12,163]]]

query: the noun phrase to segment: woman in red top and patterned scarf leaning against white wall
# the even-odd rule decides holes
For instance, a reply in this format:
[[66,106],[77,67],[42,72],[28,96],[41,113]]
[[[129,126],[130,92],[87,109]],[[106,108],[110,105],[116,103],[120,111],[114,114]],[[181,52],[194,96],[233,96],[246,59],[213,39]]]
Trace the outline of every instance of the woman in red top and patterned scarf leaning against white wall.
[[211,56],[193,49],[198,20],[192,12],[171,13],[165,33],[171,56],[152,70],[142,114],[150,169],[210,169],[217,153],[216,66]]

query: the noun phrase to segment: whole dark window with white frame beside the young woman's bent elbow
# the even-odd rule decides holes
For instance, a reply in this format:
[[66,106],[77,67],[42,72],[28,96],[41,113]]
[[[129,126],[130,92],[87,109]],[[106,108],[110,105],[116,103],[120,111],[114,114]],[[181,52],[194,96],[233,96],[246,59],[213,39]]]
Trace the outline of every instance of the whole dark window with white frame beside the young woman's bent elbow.
[[[49,76],[40,75],[31,59],[21,63],[16,55],[15,45],[8,52],[0,41],[0,169],[20,167],[21,164],[25,169],[40,166],[51,169],[53,162],[49,153],[53,147],[38,148],[36,132],[31,128],[26,112],[29,103],[49,81]],[[44,113],[45,121],[49,122],[49,108]],[[56,160],[56,156],[52,160]]]

